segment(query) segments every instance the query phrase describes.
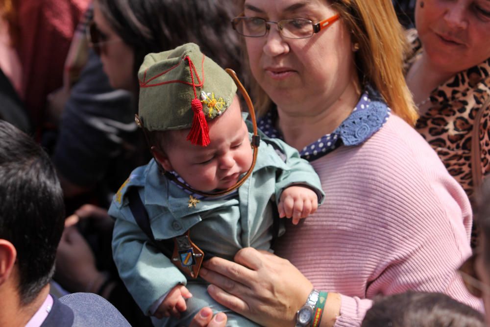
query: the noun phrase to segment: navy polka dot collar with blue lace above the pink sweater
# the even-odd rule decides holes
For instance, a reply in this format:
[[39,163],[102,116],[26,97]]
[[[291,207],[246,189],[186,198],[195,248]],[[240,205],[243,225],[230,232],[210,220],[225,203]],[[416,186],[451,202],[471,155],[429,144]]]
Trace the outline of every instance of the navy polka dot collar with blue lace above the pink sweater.
[[[342,144],[356,146],[366,141],[377,132],[390,117],[391,110],[382,100],[379,93],[366,86],[365,92],[357,102],[349,117],[332,133],[325,134],[317,141],[299,151],[302,158],[313,161],[337,149]],[[284,140],[275,126],[277,111],[270,110],[264,117],[259,118],[257,126],[269,137]]]

